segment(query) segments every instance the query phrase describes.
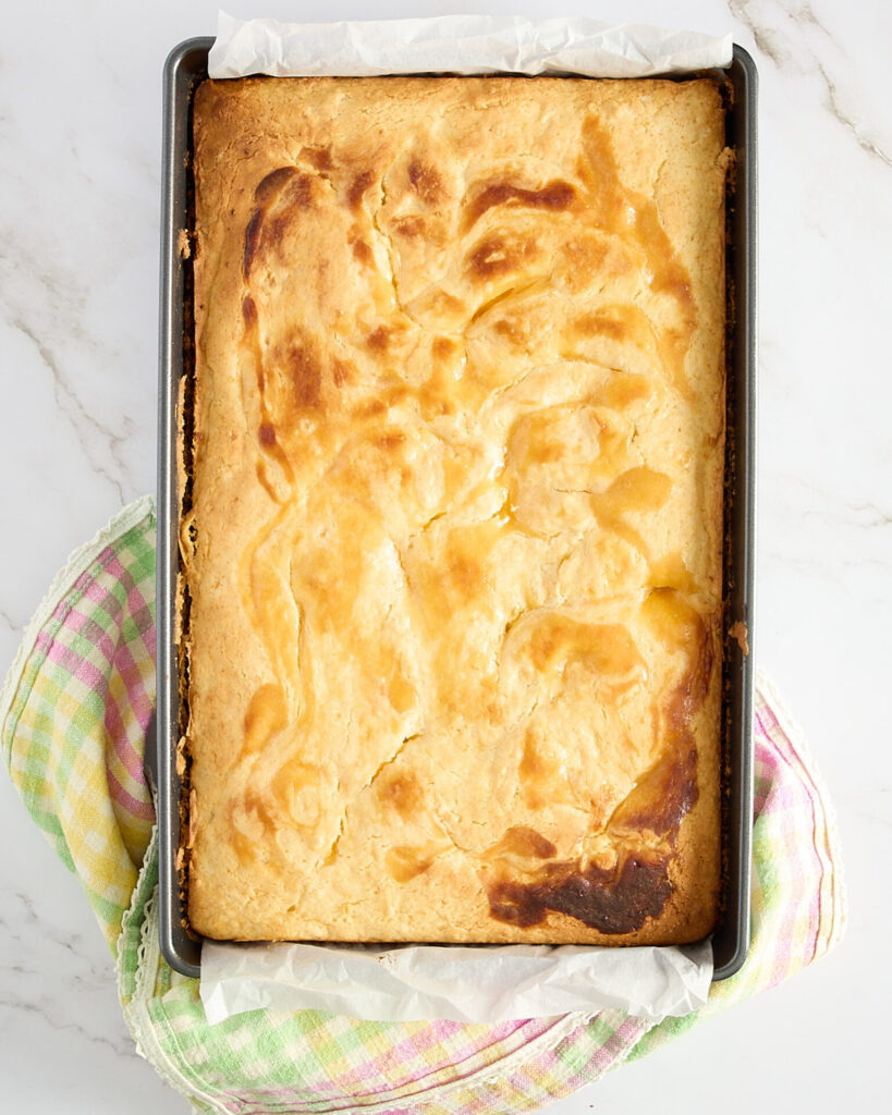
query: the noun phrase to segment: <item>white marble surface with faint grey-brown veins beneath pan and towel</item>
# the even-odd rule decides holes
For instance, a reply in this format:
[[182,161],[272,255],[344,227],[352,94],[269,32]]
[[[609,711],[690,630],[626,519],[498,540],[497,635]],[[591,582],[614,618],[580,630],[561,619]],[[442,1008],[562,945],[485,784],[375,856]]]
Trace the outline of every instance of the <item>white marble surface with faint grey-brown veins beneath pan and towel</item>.
[[[288,3],[321,20],[554,4]],[[560,6],[559,6],[560,8]],[[758,657],[836,803],[846,940],[814,969],[552,1115],[837,1112],[888,1099],[892,903],[892,9],[883,0],[566,4],[714,33],[762,77]],[[155,476],[161,69],[215,4],[3,4],[0,668],[68,552]],[[0,777],[4,1111],[185,1113],[135,1055],[75,880]]]

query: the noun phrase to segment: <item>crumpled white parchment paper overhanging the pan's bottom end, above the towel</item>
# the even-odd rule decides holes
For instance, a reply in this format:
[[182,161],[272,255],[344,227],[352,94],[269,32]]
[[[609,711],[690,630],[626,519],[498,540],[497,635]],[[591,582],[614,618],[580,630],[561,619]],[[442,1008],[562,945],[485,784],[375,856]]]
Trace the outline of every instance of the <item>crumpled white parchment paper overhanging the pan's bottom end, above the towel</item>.
[[209,1022],[244,1010],[501,1022],[618,1007],[658,1022],[706,1002],[712,949],[575,944],[217,944],[202,950]]

